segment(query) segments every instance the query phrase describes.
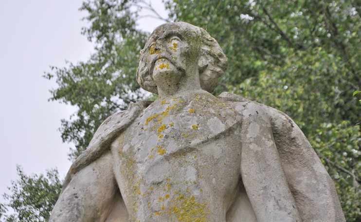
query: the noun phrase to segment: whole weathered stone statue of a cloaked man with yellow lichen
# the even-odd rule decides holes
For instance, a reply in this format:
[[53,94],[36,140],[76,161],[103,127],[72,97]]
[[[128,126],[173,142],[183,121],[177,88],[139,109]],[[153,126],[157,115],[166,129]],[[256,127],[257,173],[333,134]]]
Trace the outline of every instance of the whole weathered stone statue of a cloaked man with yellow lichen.
[[227,58],[166,23],[137,71],[155,102],[111,115],[72,164],[51,222],[344,222],[335,185],[284,113],[212,92]]

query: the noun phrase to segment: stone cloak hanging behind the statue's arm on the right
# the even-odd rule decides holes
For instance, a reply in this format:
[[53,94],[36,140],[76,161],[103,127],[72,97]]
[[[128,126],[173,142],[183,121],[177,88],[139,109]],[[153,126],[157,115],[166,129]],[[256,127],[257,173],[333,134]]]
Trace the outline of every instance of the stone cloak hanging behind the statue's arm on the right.
[[304,222],[345,222],[333,180],[307,137],[285,113],[259,104],[271,121],[289,188]]

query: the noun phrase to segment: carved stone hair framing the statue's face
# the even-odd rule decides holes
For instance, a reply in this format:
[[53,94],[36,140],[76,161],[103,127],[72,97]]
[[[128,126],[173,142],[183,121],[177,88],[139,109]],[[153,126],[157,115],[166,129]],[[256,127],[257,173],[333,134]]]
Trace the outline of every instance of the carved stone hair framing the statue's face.
[[[199,81],[203,90],[213,92],[218,85],[218,78],[224,74],[227,69],[227,57],[218,45],[217,41],[212,38],[204,29],[188,24],[186,22],[172,22],[165,23],[154,30],[150,35],[157,35],[164,33],[163,30],[170,30],[170,32],[177,32],[188,40],[191,44],[197,44],[198,51],[198,67],[199,67]],[[148,37],[149,40],[150,37]],[[139,85],[145,90],[158,94],[157,85],[151,78],[148,49],[145,46],[141,51],[139,67],[137,70],[137,81]]]

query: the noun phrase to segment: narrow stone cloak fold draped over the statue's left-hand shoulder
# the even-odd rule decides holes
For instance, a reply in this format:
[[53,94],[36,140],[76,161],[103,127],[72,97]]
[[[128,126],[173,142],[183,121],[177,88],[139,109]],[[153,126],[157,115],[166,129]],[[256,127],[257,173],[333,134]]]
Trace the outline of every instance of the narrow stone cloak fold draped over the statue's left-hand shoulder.
[[137,101],[129,104],[127,110],[123,110],[109,116],[96,130],[87,149],[72,163],[68,171],[63,190],[69,184],[72,176],[98,159],[106,151],[110,144],[118,137],[153,101]]

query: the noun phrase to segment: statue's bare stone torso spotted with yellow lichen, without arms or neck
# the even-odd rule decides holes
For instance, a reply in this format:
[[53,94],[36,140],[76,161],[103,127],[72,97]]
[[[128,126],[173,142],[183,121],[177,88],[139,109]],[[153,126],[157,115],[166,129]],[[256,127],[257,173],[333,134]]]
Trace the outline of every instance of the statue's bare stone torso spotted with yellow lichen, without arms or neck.
[[232,104],[209,93],[158,99],[112,143],[129,221],[225,221],[241,183]]

